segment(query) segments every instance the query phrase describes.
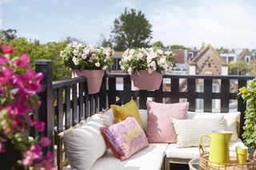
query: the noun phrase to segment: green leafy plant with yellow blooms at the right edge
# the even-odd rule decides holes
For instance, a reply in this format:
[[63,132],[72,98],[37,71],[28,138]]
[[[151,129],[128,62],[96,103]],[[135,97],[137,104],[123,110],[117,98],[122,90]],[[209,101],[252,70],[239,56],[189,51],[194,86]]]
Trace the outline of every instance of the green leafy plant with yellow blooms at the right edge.
[[245,111],[245,124],[242,134],[244,143],[249,148],[256,148],[256,78],[254,78],[246,87],[239,89],[238,96],[241,96],[243,101],[247,102]]

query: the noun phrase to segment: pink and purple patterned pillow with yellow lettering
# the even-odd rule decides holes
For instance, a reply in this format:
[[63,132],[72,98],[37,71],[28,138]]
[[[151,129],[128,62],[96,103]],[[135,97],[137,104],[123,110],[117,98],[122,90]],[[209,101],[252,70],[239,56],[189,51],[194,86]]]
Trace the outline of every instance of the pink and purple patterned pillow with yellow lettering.
[[106,144],[119,160],[126,160],[135,152],[149,146],[145,132],[132,116],[100,130]]

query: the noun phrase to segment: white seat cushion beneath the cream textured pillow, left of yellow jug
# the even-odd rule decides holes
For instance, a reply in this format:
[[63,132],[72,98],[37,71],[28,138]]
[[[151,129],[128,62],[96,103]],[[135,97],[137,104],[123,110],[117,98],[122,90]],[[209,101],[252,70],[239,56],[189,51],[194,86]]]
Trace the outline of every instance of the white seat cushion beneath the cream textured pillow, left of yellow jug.
[[[238,139],[237,141],[230,142],[230,150],[235,150],[236,146],[244,146],[242,140]],[[209,149],[209,147],[206,149]],[[198,147],[178,148],[177,144],[170,144],[166,150],[167,158],[194,159],[198,156]]]

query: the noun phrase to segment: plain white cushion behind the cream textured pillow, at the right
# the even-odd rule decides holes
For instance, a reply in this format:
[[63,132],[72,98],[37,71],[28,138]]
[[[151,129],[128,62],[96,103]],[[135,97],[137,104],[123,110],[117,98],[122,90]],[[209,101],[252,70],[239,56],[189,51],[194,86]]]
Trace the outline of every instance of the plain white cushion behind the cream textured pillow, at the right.
[[193,119],[201,119],[206,117],[219,117],[224,116],[225,126],[227,131],[233,132],[231,136],[231,141],[238,140],[238,128],[240,124],[240,112],[236,113],[195,113],[195,112],[188,112],[188,118]]

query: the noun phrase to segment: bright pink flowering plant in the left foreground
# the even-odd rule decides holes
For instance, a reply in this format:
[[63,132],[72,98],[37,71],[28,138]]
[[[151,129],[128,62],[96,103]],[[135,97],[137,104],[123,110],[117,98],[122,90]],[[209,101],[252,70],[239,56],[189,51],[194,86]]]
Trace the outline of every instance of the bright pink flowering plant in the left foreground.
[[54,169],[47,137],[30,139],[30,128],[43,132],[45,123],[32,120],[38,109],[42,73],[30,69],[30,57],[14,56],[14,48],[0,45],[0,169]]

